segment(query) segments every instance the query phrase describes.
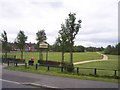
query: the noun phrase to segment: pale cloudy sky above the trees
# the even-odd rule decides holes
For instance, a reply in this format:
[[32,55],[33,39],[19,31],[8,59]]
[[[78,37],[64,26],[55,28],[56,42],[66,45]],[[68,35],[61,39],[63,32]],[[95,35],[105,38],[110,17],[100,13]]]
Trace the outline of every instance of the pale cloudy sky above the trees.
[[47,42],[54,44],[68,14],[76,13],[81,28],[75,45],[106,47],[118,42],[119,0],[0,0],[0,33],[5,30],[14,42],[20,30],[27,42],[36,43],[36,33],[44,29]]

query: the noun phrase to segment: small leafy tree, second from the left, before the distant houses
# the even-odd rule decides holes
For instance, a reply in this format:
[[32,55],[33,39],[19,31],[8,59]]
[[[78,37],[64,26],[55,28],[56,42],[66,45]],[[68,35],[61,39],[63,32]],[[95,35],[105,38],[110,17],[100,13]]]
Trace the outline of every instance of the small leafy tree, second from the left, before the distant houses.
[[19,31],[17,38],[15,40],[16,45],[21,51],[21,59],[23,60],[23,51],[25,47],[25,42],[27,41],[27,36],[24,34],[24,31]]

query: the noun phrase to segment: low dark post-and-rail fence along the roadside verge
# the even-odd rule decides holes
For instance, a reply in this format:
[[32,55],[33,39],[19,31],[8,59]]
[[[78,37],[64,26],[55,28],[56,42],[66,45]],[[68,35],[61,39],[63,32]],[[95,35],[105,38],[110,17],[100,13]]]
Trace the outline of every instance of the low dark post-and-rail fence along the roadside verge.
[[[11,61],[8,61],[8,66],[10,66],[11,64]],[[13,64],[11,64],[13,65]],[[30,65],[28,63],[25,63],[23,64],[26,67],[29,67]],[[14,66],[18,67],[19,66],[19,62],[14,62]],[[33,67],[35,67],[36,70],[38,69],[41,69],[41,68],[38,68],[38,67],[46,67],[48,71],[52,70],[51,68],[58,68],[60,69],[61,72],[64,72],[64,67],[62,66],[55,66],[55,65],[40,65],[40,64],[35,64],[35,65],[32,65]],[[81,74],[84,74],[84,75],[99,75],[99,76],[118,76],[118,72],[120,70],[118,69],[103,69],[103,68],[83,68],[83,67],[74,67],[74,72],[73,73],[76,73],[77,75],[81,75]]]

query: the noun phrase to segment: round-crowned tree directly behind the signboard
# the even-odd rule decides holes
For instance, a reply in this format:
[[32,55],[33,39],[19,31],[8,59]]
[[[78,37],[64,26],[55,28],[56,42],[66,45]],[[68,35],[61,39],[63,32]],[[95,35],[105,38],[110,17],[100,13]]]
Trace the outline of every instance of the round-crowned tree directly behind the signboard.
[[[38,30],[38,32],[36,33],[36,40],[37,40],[37,45],[38,45],[38,48],[39,48],[39,44],[41,42],[45,42],[47,39],[46,37],[46,33],[45,33],[45,30]],[[41,56],[41,58],[40,58]],[[42,52],[41,52],[41,55],[40,55],[40,52],[39,52],[39,59],[42,59]]]

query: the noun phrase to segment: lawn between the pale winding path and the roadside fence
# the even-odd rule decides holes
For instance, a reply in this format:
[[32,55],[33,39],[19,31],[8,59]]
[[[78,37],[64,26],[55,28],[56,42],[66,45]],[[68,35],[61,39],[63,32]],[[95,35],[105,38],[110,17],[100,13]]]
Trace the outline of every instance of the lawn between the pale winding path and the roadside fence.
[[[98,61],[98,62],[91,62],[86,64],[75,65],[79,67],[81,73],[91,74],[93,71],[91,69],[82,69],[82,68],[96,68],[98,75],[105,75],[105,76],[113,76],[114,70],[118,70],[118,56],[117,55],[108,55],[109,60],[107,61]],[[106,69],[106,70],[99,70],[99,69]],[[118,71],[117,71],[118,75]]]

